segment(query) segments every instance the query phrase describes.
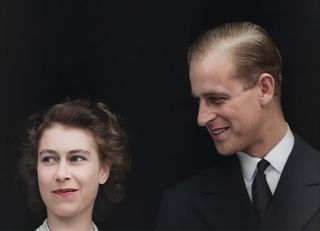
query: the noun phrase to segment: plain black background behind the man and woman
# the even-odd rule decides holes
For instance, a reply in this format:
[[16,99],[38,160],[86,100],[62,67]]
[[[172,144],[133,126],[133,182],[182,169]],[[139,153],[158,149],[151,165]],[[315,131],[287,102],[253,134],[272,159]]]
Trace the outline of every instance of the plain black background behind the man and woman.
[[100,230],[152,229],[161,191],[218,158],[196,125],[187,48],[200,32],[239,20],[278,44],[287,121],[320,149],[318,0],[1,0],[0,229],[39,225],[17,177],[19,146],[27,117],[66,97],[108,103],[128,132],[128,196]]

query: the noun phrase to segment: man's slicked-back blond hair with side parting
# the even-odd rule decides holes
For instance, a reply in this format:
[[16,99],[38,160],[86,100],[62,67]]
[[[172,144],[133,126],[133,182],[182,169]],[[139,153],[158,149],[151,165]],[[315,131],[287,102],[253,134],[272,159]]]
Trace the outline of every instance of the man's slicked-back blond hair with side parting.
[[188,63],[211,52],[222,50],[230,54],[236,77],[246,88],[256,84],[257,76],[269,73],[275,80],[275,94],[280,96],[282,59],[270,35],[251,22],[232,22],[204,32],[188,50]]

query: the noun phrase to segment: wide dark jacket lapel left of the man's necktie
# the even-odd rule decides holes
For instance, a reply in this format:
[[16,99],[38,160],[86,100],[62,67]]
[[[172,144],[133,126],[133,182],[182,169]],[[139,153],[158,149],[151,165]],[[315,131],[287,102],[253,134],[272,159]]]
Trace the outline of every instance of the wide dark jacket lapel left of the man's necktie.
[[257,218],[244,185],[236,155],[213,169],[211,179],[193,199],[195,208],[212,229],[252,229]]

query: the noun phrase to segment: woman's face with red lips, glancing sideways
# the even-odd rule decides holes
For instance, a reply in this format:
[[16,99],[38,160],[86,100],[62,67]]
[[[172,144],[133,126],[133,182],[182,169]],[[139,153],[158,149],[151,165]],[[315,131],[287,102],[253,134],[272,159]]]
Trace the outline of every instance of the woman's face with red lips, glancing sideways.
[[39,140],[37,173],[47,216],[92,216],[99,184],[106,182],[109,165],[100,163],[89,130],[53,124]]

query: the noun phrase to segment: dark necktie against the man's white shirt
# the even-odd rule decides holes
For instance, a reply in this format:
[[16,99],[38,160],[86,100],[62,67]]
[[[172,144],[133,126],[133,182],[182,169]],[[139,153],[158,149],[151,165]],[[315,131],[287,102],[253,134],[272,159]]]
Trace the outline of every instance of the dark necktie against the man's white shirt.
[[270,188],[266,181],[266,175],[264,174],[264,171],[269,164],[270,163],[265,159],[262,159],[258,162],[257,174],[252,183],[252,203],[260,221],[262,220],[262,217],[268,206],[268,202],[272,197]]

